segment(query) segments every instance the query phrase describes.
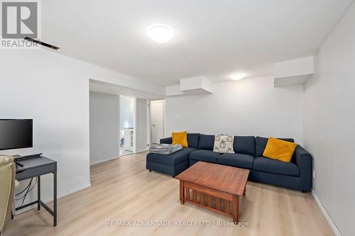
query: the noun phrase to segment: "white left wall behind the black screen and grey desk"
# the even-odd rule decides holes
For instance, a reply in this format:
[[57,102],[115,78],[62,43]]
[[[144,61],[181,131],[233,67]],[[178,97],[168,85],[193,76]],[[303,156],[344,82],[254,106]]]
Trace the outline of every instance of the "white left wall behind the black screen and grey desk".
[[[58,162],[58,195],[89,186],[89,78],[143,89],[142,81],[48,50],[1,50],[0,118],[33,118],[33,148]],[[163,93],[159,86],[146,91]],[[24,184],[24,183],[23,183]],[[28,200],[34,200],[32,191]],[[53,194],[44,176],[43,198]]]

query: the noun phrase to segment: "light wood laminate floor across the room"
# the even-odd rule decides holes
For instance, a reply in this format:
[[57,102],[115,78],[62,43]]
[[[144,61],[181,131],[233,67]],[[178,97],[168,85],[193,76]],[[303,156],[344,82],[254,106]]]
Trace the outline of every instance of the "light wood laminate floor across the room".
[[[5,236],[12,235],[333,235],[310,193],[248,182],[239,220],[247,227],[217,226],[231,218],[190,203],[180,205],[179,181],[146,170],[146,152],[91,167],[92,187],[58,199],[58,226],[45,210],[16,215]],[[50,205],[51,206],[51,205]],[[107,221],[188,221],[209,227],[107,226]],[[184,221],[185,220],[185,221]],[[137,221],[136,221],[137,223]]]

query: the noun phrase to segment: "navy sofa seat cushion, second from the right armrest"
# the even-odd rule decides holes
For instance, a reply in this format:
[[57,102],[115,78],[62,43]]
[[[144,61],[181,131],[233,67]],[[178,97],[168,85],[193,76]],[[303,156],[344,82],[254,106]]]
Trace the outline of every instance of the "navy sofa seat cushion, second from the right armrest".
[[255,157],[249,154],[227,153],[218,157],[218,164],[225,164],[231,167],[239,167],[244,169],[253,169]]

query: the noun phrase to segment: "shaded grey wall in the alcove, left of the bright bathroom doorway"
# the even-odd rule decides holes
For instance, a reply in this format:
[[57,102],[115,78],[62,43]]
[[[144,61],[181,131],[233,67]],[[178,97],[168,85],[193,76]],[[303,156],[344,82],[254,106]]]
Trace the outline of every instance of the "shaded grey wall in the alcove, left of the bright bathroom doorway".
[[119,96],[90,91],[90,164],[119,157]]

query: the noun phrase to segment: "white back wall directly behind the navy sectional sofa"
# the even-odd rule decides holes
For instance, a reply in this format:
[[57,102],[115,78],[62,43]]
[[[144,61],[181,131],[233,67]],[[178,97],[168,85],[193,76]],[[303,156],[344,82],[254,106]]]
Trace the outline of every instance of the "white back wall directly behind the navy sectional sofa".
[[303,142],[303,86],[273,87],[273,77],[214,84],[208,95],[165,99],[166,132],[293,137]]

